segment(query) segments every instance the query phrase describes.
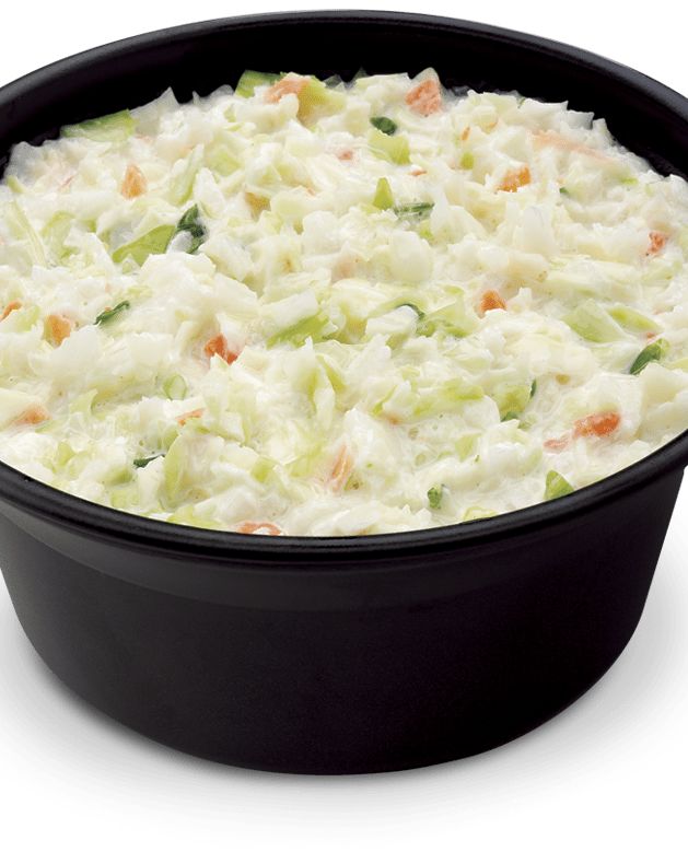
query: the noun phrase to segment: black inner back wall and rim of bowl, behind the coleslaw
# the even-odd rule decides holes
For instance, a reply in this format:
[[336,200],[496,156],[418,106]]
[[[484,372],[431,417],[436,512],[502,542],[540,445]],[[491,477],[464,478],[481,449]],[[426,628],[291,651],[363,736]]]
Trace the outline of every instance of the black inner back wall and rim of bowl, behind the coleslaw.
[[180,101],[194,92],[209,94],[220,85],[234,85],[246,68],[348,80],[361,68],[413,74],[428,67],[448,86],[516,90],[592,110],[661,172],[687,175],[686,100],[655,81],[535,36],[395,13],[209,21],[71,57],[0,92],[0,151],[7,153],[19,141],[55,137],[65,124],[144,104],[168,86]]

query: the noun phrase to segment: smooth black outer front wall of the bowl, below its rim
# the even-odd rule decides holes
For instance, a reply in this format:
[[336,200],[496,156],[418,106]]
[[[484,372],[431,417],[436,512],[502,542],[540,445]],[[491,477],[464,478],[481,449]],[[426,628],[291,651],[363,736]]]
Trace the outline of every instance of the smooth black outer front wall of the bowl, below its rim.
[[[666,477],[536,547],[417,563],[424,595],[399,567],[386,590],[347,573],[333,597],[312,565],[279,606],[253,575],[264,606],[237,605],[238,586],[236,603],[191,599],[97,570],[100,542],[69,558],[1,513],[0,561],[48,666],[133,730],[237,766],[386,771],[508,742],[597,680],[638,623],[679,486]],[[123,542],[120,558],[140,555]],[[319,606],[304,607],[314,585]]]

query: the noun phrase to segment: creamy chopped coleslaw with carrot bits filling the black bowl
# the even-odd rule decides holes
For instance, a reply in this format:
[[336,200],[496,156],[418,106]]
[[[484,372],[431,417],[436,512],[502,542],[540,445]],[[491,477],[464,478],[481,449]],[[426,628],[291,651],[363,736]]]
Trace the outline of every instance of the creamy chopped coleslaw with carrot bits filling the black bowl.
[[0,459],[357,536],[564,497],[688,428],[688,185],[567,104],[246,71],[14,148]]

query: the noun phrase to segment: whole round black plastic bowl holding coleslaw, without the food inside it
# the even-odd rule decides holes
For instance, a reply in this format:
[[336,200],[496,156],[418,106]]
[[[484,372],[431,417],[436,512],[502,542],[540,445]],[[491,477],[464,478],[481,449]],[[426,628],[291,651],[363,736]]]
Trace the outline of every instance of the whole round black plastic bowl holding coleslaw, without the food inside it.
[[[364,12],[212,21],[71,57],[0,91],[0,151],[168,85],[207,94],[246,67],[427,66],[448,85],[594,110],[687,176],[687,101],[637,71],[504,30]],[[684,433],[561,500],[364,538],[164,524],[0,465],[0,556],[40,656],[126,725],[238,766],[404,769],[505,743],[604,674],[640,618],[687,462]]]

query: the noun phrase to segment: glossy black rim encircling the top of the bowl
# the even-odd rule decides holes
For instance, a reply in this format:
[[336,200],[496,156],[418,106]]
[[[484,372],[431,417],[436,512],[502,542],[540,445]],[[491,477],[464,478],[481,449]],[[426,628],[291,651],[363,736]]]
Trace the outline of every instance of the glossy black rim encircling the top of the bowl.
[[[598,73],[611,75],[620,84],[641,91],[677,114],[688,126],[688,98],[635,69],[606,59],[597,54],[553,39],[514,30],[460,19],[407,12],[331,10],[278,12],[211,19],[179,26],[155,30],[141,35],[112,42],[32,71],[0,89],[0,107],[31,93],[37,85],[53,80],[65,71],[88,68],[93,61],[120,57],[128,52],[171,40],[184,40],[194,35],[218,30],[240,30],[293,24],[302,21],[331,23],[360,22],[388,24],[411,28],[454,31],[464,35],[480,35],[497,42],[518,44],[521,47],[547,52],[555,60],[583,62]],[[91,502],[84,498],[45,485],[19,469],[0,462],[0,501],[49,523],[68,527],[94,538],[116,539],[147,549],[166,552],[193,553],[196,557],[236,560],[242,563],[266,560],[315,560],[326,558],[322,568],[337,565],[352,558],[374,559],[395,555],[431,553],[458,546],[497,544],[505,538],[532,534],[544,527],[570,523],[594,512],[598,506],[620,499],[646,482],[674,472],[683,476],[688,464],[688,430],[611,476],[585,486],[572,494],[525,509],[506,512],[477,522],[457,522],[439,527],[425,527],[400,533],[365,536],[255,536],[186,526],[130,514]],[[370,563],[366,563],[370,567]]]

